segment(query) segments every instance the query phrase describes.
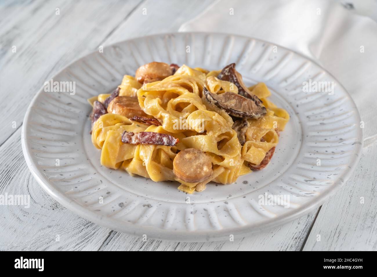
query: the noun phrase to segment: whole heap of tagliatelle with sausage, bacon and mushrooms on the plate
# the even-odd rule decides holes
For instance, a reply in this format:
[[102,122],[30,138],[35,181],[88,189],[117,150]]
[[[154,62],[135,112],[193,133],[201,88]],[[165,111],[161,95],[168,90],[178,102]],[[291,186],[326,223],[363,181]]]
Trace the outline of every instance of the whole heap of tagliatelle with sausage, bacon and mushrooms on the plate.
[[264,83],[247,87],[234,63],[218,71],[152,62],[112,94],[89,99],[101,165],[187,193],[265,168],[289,120]]

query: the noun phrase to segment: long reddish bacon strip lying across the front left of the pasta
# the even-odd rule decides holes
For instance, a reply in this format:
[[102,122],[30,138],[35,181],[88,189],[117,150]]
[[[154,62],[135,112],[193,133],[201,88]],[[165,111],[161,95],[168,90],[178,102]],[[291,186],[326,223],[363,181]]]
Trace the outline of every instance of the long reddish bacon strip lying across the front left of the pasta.
[[179,140],[171,135],[155,133],[155,132],[127,132],[124,131],[122,134],[122,142],[130,143],[133,145],[137,144],[154,144],[154,145],[166,145],[174,146]]

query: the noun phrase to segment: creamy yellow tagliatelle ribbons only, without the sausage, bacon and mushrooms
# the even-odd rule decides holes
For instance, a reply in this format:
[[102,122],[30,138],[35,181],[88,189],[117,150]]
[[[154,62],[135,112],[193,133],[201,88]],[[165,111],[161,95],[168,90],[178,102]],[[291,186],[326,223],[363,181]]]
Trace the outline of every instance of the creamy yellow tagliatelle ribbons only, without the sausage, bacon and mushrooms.
[[[131,175],[140,175],[155,182],[177,181],[181,184],[178,188],[187,193],[203,191],[209,182],[234,183],[239,175],[250,173],[252,165],[261,164],[266,153],[277,145],[279,131],[284,130],[289,115],[267,99],[270,91],[264,83],[248,88],[261,100],[259,108],[263,114],[258,114],[259,118],[235,118],[222,108],[221,103],[214,105],[209,102],[204,91],[207,91],[207,96],[208,93],[239,94],[239,85],[219,79],[220,72],[183,65],[169,77],[144,84],[125,75],[117,97],[137,97],[141,110],[158,120],[161,126],[112,113],[109,105],[109,108],[106,107],[109,113],[101,115],[92,126],[92,143],[101,149],[101,165],[121,168]],[[104,103],[104,96],[109,95],[91,98],[91,103]],[[235,120],[244,120],[243,145],[238,131],[233,129]],[[125,131],[168,134],[178,139],[178,143],[173,146],[123,143],[121,138]],[[190,148],[204,152],[212,164],[212,168],[208,169],[210,174],[201,182],[181,180],[177,177],[178,170],[173,170],[176,155]]]

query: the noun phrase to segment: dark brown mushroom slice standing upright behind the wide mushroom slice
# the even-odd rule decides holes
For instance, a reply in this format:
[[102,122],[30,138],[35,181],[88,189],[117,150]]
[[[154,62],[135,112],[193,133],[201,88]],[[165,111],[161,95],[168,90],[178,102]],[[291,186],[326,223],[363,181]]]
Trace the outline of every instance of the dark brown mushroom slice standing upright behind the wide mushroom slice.
[[[266,108],[262,106],[262,101],[256,95],[251,93],[251,91],[245,86],[244,81],[242,81],[242,76],[236,71],[236,64],[231,63],[230,65],[225,66],[220,74],[218,75],[220,80],[228,81],[233,83],[238,88],[238,94],[249,98],[254,101],[255,105],[258,107],[255,110],[256,114],[265,114]],[[260,115],[259,115],[260,116]]]

